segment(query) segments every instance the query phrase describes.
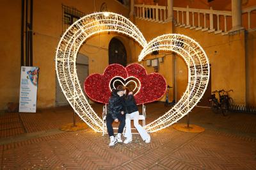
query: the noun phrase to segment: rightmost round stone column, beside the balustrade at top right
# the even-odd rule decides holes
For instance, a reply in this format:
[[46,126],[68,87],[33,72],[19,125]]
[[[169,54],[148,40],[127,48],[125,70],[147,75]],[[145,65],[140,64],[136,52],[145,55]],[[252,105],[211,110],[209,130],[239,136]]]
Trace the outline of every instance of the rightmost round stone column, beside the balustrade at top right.
[[232,29],[230,31],[239,31],[242,27],[242,0],[232,0]]

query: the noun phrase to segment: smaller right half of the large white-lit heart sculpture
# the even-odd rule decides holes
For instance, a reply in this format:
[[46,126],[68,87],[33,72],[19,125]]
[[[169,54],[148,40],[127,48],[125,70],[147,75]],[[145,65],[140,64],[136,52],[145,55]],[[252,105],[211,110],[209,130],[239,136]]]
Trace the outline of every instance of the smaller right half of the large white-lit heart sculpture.
[[166,114],[146,125],[149,132],[156,132],[177,122],[199,102],[209,80],[209,61],[195,40],[188,36],[170,34],[154,38],[139,56],[139,61],[154,50],[170,50],[178,53],[188,66],[188,88],[179,102]]

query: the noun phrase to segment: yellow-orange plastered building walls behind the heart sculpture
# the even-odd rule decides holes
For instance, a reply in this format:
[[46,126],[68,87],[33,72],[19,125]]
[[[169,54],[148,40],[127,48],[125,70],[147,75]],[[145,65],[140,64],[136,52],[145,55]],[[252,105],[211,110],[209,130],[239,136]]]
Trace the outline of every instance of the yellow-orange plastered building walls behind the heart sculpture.
[[[62,5],[70,6],[83,12],[85,15],[93,12],[99,12],[103,3],[108,5],[109,12],[120,13],[129,17],[143,33],[147,41],[166,33],[179,33],[187,35],[197,42],[205,50],[211,64],[211,91],[217,89],[233,89],[230,93],[236,104],[256,105],[256,40],[255,31],[241,30],[236,33],[221,35],[195,31],[186,27],[175,26],[174,22],[152,22],[150,20],[139,19],[130,16],[131,7],[125,6],[115,0],[95,0],[95,1],[33,1],[33,66],[40,68],[38,82],[37,107],[55,107],[56,106],[56,72],[55,72],[55,54],[56,47],[62,35],[63,26],[63,8]],[[151,1],[135,1],[135,4],[150,4]],[[174,6],[184,6],[184,2],[174,0]],[[163,3],[163,2],[162,2]],[[161,1],[159,1],[159,5]],[[231,6],[227,4],[227,8]],[[164,4],[163,5],[167,5]],[[254,6],[256,3],[249,1],[246,8]],[[202,8],[202,4],[196,4],[193,8]],[[245,8],[244,6],[242,6]],[[221,9],[220,9],[221,10]],[[225,10],[227,10],[225,8]],[[255,11],[254,11],[255,12]],[[20,26],[21,26],[21,3],[19,0],[7,1],[1,3],[1,27],[0,27],[0,110],[6,109],[8,102],[19,102],[20,86]],[[136,13],[136,10],[135,10]],[[175,15],[175,13],[174,13]],[[173,15],[173,16],[174,16]],[[177,15],[176,15],[177,17]],[[251,15],[255,20],[255,15]],[[230,23],[229,23],[229,25]],[[253,25],[252,25],[253,27]],[[114,33],[101,33],[95,35],[86,41],[79,50],[79,53],[88,56],[89,74],[103,73],[106,66],[109,65],[108,47],[111,39],[115,37],[120,40],[127,52],[127,64],[138,62],[138,55],[141,47],[131,38]],[[152,66],[147,66],[148,59],[163,58],[159,63],[157,72],[161,73],[166,82],[173,86],[175,91],[170,95],[176,96],[177,100],[182,96],[188,83],[188,70],[180,56],[171,52],[159,52],[158,55],[148,55],[143,65],[148,73],[154,72]],[[175,65],[175,67],[174,67]],[[165,97],[161,98],[164,101]]]

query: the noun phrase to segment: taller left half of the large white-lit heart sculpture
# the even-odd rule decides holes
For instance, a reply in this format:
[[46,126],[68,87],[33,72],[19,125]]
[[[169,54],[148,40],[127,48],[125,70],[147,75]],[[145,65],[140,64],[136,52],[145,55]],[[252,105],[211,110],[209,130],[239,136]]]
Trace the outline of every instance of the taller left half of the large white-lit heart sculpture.
[[90,36],[108,31],[131,36],[143,47],[147,44],[131,21],[116,13],[108,14],[92,13],[74,22],[61,37],[56,51],[56,73],[61,89],[74,111],[96,132],[102,132],[103,121],[88,104],[79,85],[75,64],[79,47]]

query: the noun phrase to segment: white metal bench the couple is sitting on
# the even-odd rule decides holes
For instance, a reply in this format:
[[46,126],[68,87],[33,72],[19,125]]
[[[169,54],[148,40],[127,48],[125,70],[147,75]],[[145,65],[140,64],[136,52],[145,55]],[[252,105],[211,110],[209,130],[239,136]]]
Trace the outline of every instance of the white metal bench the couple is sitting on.
[[[103,112],[102,112],[102,119],[103,119],[103,133],[107,134],[107,128],[106,128],[106,116],[107,116],[107,104],[103,106]],[[132,119],[133,120],[133,119]],[[142,127],[145,127],[146,125],[146,106],[144,104],[142,104],[142,114],[139,115],[139,121],[142,120]],[[114,130],[118,129],[118,127],[113,127]],[[136,128],[131,128],[131,129],[136,129]],[[125,130],[126,130],[126,126],[124,127],[124,132],[123,135],[125,134]],[[115,132],[116,134],[117,132]],[[132,132],[132,134],[138,134],[138,132]]]

